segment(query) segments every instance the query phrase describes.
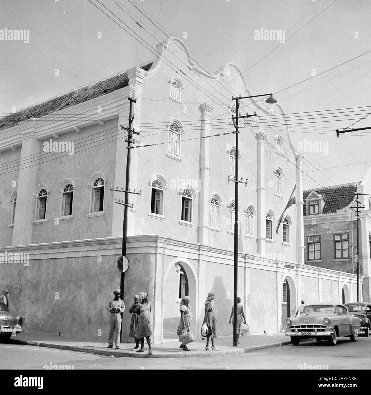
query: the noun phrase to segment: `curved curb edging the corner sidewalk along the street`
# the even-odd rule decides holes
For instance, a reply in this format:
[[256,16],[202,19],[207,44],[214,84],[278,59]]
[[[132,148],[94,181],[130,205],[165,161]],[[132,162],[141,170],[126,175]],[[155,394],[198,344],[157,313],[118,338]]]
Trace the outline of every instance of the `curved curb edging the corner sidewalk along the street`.
[[[309,339],[308,339],[309,340]],[[13,340],[12,342],[17,344],[27,344],[28,346],[36,346],[36,347],[47,347],[47,348],[57,348],[59,350],[66,351],[77,351],[77,352],[86,352],[89,354],[99,354],[113,357],[126,357],[126,358],[199,358],[199,357],[224,357],[229,355],[239,355],[244,354],[246,352],[252,352],[257,350],[264,350],[266,348],[280,347],[291,344],[291,341],[283,341],[271,344],[264,344],[262,346],[251,346],[246,348],[238,348],[236,350],[226,350],[220,352],[196,352],[196,353],[161,353],[157,354],[156,351],[153,352],[152,355],[147,353],[137,353],[137,352],[122,352],[122,351],[108,351],[108,350],[96,350],[88,347],[79,347],[79,346],[64,346],[62,344],[52,344],[52,343],[43,343],[43,342],[34,342],[28,340]]]

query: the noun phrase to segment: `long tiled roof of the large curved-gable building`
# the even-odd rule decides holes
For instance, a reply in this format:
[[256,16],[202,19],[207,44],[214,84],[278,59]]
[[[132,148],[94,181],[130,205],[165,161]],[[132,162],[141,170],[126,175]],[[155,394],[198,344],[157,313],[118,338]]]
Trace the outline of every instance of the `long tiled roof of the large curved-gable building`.
[[[152,62],[141,66],[141,68],[148,71],[151,66]],[[40,118],[44,115],[65,109],[66,107],[72,107],[73,105],[87,102],[88,100],[111,93],[114,90],[127,87],[128,84],[129,79],[127,73],[126,71],[123,71],[113,77],[108,77],[101,81],[77,88],[71,92],[46,100],[45,102],[31,105],[30,107],[18,110],[14,114],[6,115],[5,117],[0,118],[0,131],[11,128],[19,122],[29,118]]]

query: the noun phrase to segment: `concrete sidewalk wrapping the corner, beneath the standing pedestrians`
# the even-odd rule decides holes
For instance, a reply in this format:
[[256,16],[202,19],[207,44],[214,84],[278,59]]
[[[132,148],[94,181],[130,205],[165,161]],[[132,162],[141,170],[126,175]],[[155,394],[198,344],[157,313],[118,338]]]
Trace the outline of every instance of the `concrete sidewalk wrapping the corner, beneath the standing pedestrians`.
[[[52,335],[38,335],[24,332],[17,337],[11,337],[11,343],[28,344],[31,346],[59,348],[61,350],[71,350],[88,352],[91,354],[100,354],[114,357],[133,357],[133,358],[192,358],[192,357],[220,357],[224,355],[243,354],[255,350],[262,350],[270,347],[278,347],[291,344],[290,338],[284,333],[272,333],[267,335],[247,335],[240,336],[240,344],[233,347],[233,338],[224,337],[216,338],[215,346],[218,351],[206,351],[206,340],[196,340],[188,344],[191,351],[183,351],[179,348],[179,341],[168,341],[162,344],[154,344],[152,355],[148,354],[148,345],[144,344],[143,353],[131,351],[135,343],[121,343],[119,350],[116,348],[106,348],[107,341],[104,340],[86,340],[71,339],[67,337],[58,337]],[[211,340],[210,344],[211,346]]]

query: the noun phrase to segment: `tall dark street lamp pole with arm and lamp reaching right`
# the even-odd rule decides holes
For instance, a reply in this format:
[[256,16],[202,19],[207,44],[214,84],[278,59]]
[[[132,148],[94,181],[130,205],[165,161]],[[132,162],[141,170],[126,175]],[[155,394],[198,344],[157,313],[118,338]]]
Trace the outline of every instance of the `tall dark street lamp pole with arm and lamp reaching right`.
[[[265,95],[255,95],[255,96],[245,96],[236,98],[232,98],[232,100],[236,100],[236,116],[232,117],[232,119],[235,119],[235,127],[236,127],[236,164],[235,164],[235,243],[234,243],[234,265],[233,265],[233,346],[237,347],[237,282],[238,282],[238,184],[239,182],[244,182],[238,181],[238,160],[239,160],[239,150],[238,150],[238,135],[239,135],[239,130],[238,130],[238,120],[239,118],[248,118],[248,117],[255,117],[256,113],[254,115],[243,115],[239,116],[239,107],[240,107],[240,100],[241,99],[248,99],[248,98],[256,98],[260,96],[269,96],[267,100],[265,100],[266,103],[269,104],[274,104],[277,103],[277,100],[273,97],[273,94],[265,94]],[[246,184],[246,182],[244,182]]]

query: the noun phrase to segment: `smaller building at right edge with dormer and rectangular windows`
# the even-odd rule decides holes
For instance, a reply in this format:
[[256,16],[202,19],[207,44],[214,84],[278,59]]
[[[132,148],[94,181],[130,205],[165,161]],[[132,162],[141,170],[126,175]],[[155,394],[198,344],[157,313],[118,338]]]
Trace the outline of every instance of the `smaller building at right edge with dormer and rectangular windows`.
[[[362,182],[303,191],[306,265],[357,272],[357,216],[356,209],[350,207],[357,205],[356,192],[371,191],[370,175],[371,169]],[[359,200],[360,206],[365,206],[360,209],[359,224],[359,273],[364,276],[360,297],[368,301],[371,299],[371,202],[367,195]],[[345,293],[346,290],[342,294],[343,302],[347,299]]]

